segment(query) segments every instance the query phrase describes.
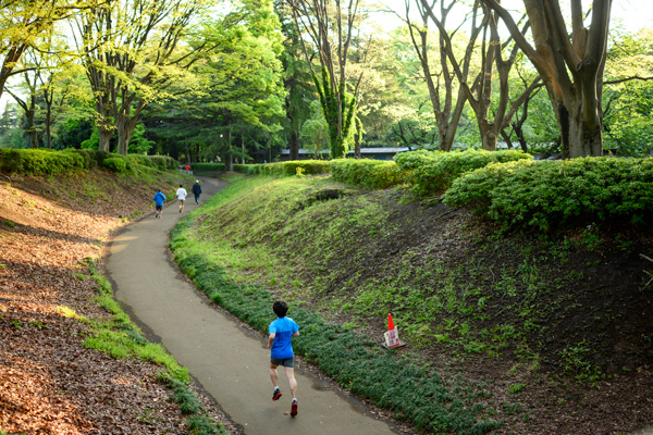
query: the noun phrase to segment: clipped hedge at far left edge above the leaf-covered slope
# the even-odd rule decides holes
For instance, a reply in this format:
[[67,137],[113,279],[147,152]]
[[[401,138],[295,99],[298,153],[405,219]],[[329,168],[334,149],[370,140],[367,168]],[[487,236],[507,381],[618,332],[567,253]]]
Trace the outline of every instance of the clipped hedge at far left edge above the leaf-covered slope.
[[72,173],[84,169],[81,154],[45,149],[0,149],[0,171],[27,175]]

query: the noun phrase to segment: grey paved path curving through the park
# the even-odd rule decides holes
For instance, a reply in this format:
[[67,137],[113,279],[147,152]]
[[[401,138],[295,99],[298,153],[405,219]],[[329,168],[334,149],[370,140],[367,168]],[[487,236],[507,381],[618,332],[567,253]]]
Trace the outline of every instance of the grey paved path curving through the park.
[[[202,182],[200,206],[226,186],[210,178]],[[186,212],[197,207],[190,195]],[[375,420],[360,403],[329,389],[300,368],[296,370],[299,414],[297,418],[284,414],[289,411],[292,396],[280,370],[283,397],[272,401],[264,340],[211,307],[178,275],[169,258],[168,233],[183,216],[175,201],[163,209],[162,219],[155,219],[152,213],[126,226],[110,244],[107,271],[115,298],[126,306],[133,319],[145,325],[149,337],[160,341],[187,366],[246,434],[398,433]],[[273,319],[271,312],[270,320]]]

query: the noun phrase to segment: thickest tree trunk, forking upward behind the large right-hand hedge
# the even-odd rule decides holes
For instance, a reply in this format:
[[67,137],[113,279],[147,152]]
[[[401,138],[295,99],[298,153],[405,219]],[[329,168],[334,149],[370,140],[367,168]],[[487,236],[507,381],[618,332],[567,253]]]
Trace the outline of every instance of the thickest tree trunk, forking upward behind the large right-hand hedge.
[[523,0],[534,44],[497,0],[482,0],[506,24],[540,73],[562,136],[564,159],[603,154],[603,71],[612,0],[593,0],[589,28],[581,0],[570,0],[570,29],[557,1]]

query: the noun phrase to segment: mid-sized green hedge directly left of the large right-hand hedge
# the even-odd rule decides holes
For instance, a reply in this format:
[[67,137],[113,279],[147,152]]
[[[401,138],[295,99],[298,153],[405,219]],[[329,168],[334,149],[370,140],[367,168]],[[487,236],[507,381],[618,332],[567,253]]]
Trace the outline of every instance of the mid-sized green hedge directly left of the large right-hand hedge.
[[396,157],[397,164],[407,172],[407,182],[422,196],[443,194],[461,174],[486,166],[516,160],[532,160],[520,150],[485,151],[411,151]]

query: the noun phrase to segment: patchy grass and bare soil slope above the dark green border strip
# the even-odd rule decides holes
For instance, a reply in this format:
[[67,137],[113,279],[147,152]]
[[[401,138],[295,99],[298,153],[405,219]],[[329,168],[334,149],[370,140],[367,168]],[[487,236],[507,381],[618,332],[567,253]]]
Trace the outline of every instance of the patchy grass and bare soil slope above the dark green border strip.
[[241,259],[232,274],[378,341],[392,312],[408,341],[399,356],[432,364],[452,388],[485,385],[485,417],[504,421],[495,433],[653,423],[653,289],[642,288],[653,266],[639,256],[653,250],[650,233],[502,236],[401,190],[247,183],[199,227]]

